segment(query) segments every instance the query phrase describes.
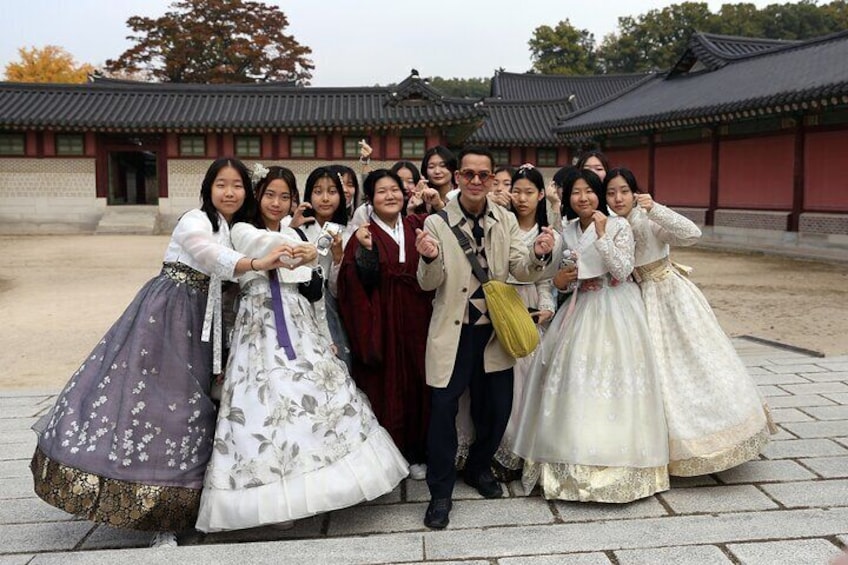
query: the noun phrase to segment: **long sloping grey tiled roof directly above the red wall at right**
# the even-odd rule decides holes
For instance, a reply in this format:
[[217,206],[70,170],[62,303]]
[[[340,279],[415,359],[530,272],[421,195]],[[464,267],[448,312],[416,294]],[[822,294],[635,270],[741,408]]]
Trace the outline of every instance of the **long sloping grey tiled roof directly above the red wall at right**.
[[787,45],[702,73],[656,76],[566,117],[569,138],[726,123],[848,104],[848,31]]

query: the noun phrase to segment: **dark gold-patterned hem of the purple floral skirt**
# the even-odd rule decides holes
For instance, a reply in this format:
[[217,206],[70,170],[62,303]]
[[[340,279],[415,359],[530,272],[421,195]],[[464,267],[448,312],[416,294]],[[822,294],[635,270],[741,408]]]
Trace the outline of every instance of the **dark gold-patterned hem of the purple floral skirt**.
[[107,479],[62,465],[36,448],[35,493],[70,514],[115,528],[179,532],[194,527],[200,489]]

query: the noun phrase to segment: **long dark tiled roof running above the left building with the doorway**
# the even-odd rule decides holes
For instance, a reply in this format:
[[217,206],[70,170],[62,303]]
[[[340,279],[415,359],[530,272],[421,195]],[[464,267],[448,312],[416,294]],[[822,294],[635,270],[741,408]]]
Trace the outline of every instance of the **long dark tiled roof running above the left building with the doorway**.
[[323,131],[451,126],[485,118],[412,75],[396,88],[288,84],[0,83],[0,128],[98,131]]

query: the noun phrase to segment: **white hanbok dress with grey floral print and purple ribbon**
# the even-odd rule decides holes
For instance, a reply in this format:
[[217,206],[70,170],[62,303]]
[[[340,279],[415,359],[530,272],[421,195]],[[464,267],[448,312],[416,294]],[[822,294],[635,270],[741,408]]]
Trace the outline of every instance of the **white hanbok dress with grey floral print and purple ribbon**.
[[[290,228],[270,232],[246,223],[233,226],[232,241],[251,257],[301,243]],[[280,269],[278,277],[295,356],[278,345],[267,273],[245,273],[200,500],[197,529],[204,532],[352,506],[391,492],[408,473],[298,292],[311,269]]]

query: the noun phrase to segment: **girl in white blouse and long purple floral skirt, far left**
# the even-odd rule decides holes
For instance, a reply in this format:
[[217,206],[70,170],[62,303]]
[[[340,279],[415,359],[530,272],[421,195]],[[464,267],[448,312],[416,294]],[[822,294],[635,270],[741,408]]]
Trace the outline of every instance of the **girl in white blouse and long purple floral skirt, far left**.
[[281,266],[232,249],[230,224],[254,209],[250,175],[212,163],[200,209],[184,214],[162,272],[136,295],[36,424],[31,469],[46,502],[96,522],[159,531],[194,525],[212,451],[212,377],[221,372],[221,280]]

